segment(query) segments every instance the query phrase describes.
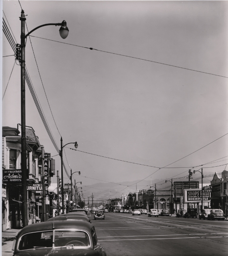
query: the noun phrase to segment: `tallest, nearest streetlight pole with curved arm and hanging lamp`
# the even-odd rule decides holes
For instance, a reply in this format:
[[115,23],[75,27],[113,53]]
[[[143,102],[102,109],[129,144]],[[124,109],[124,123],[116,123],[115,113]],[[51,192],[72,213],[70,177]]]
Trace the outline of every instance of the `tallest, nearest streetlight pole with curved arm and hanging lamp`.
[[[27,35],[25,34],[25,13],[22,10],[21,16],[19,17],[21,21],[21,45],[20,45],[20,65],[21,65],[21,169],[22,169],[22,221],[23,227],[28,225],[28,207],[27,207],[27,159],[26,159],[26,90],[25,90],[25,47],[26,47],[26,37],[29,36],[33,31],[39,29],[43,26],[55,25],[61,26],[59,29],[60,36],[65,39],[68,36],[69,29],[67,28],[67,23],[65,20],[62,23],[48,23],[32,29]],[[43,188],[45,189],[45,188]]]

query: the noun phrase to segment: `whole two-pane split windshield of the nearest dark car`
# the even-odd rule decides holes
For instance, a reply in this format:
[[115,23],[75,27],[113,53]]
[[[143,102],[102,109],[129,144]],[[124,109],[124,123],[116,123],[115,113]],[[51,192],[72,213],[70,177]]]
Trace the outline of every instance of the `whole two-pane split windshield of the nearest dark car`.
[[[54,247],[90,247],[88,234],[78,230],[54,230]],[[18,250],[52,247],[53,231],[28,233],[21,237]]]

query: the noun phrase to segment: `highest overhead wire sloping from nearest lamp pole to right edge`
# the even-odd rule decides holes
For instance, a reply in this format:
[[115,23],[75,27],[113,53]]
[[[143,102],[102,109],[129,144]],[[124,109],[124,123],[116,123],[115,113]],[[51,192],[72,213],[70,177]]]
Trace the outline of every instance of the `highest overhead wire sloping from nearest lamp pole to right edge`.
[[92,47],[85,47],[85,46],[80,46],[80,45],[69,44],[69,43],[66,43],[66,42],[55,41],[55,40],[51,40],[51,39],[47,39],[47,38],[42,38],[42,37],[39,37],[39,36],[32,36],[32,37],[36,37],[36,38],[40,38],[40,39],[44,39],[44,40],[48,40],[48,41],[53,41],[53,42],[59,42],[59,43],[65,44],[65,45],[72,45],[72,46],[77,46],[77,47],[81,47],[81,48],[85,48],[85,49],[95,50],[95,51],[98,51],[98,52],[105,52],[105,53],[119,55],[119,56],[123,56],[123,57],[135,58],[135,59],[139,59],[139,60],[146,61],[146,62],[154,62],[154,63],[157,63],[157,64],[167,65],[167,66],[174,67],[174,68],[182,68],[182,69],[186,69],[186,70],[190,70],[190,71],[194,71],[194,72],[204,73],[204,74],[207,74],[207,75],[215,75],[215,76],[219,76],[219,77],[223,77],[223,78],[228,78],[228,77],[223,76],[223,75],[216,75],[216,74],[213,74],[213,73],[203,72],[203,71],[199,71],[199,70],[195,70],[195,69],[191,69],[191,68],[183,68],[183,67],[179,67],[179,66],[175,66],[175,65],[170,65],[170,64],[166,64],[166,63],[162,63],[162,62],[155,62],[155,61],[151,61],[151,60],[148,60],[148,59],[137,58],[137,57],[123,55],[123,54],[119,54],[119,53],[115,53],[115,52],[107,52],[107,51],[103,51],[103,50],[94,49]]

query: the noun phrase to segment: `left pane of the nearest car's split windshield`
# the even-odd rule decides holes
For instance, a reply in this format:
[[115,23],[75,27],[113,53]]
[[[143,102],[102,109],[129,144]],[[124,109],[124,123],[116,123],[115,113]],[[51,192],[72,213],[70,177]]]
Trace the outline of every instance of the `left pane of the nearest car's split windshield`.
[[53,231],[34,232],[23,235],[18,250],[29,250],[34,247],[52,247]]

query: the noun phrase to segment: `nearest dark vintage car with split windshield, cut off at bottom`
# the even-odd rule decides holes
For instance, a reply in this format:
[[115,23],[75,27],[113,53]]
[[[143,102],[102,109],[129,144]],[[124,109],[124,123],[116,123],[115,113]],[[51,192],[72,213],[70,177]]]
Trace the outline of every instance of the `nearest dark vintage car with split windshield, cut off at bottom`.
[[19,231],[13,245],[14,256],[106,256],[98,243],[95,229],[86,221],[47,221]]

